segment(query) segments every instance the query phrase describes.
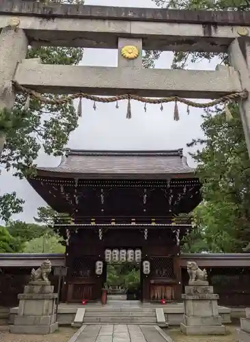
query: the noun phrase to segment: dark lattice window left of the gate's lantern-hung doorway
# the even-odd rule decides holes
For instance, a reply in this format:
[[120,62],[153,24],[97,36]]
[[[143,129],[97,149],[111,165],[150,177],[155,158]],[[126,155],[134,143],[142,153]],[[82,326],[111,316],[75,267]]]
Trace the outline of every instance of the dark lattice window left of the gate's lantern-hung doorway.
[[70,267],[70,275],[81,278],[91,278],[95,276],[96,259],[95,257],[75,257]]

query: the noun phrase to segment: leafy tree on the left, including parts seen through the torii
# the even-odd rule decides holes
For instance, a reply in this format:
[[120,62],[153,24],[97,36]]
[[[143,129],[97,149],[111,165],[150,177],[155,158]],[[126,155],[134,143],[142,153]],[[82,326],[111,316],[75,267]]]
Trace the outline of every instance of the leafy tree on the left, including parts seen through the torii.
[[[44,3],[43,0],[40,0]],[[83,3],[82,0],[57,0],[61,3]],[[27,58],[40,57],[46,64],[79,64],[83,57],[83,49],[67,47],[29,47]],[[44,94],[48,98],[60,98],[60,95]],[[61,155],[68,143],[70,132],[77,128],[77,113],[73,103],[61,105],[42,104],[31,98],[29,110],[23,111],[26,96],[18,94],[11,111],[0,113],[0,136],[5,135],[5,145],[1,155],[1,165],[6,170],[14,168],[14,176],[23,178],[34,172],[38,152],[44,148],[48,155]],[[19,120],[20,117],[22,120]],[[14,193],[13,193],[14,194]],[[21,207],[23,200],[16,194],[3,195],[0,198],[0,218],[5,220],[6,207],[10,213]],[[11,214],[10,214],[11,215]]]

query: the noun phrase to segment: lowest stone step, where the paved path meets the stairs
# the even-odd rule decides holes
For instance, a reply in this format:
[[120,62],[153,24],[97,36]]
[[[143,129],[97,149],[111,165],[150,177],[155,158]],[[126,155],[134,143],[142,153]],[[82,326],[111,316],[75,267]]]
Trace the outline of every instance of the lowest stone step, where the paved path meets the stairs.
[[84,324],[156,324],[156,317],[84,317]]

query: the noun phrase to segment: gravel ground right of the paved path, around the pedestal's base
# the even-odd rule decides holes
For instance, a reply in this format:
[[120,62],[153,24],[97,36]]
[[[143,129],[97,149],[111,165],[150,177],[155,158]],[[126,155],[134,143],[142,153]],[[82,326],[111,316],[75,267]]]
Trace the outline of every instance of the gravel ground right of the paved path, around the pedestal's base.
[[179,328],[166,329],[165,332],[174,342],[235,342],[236,328],[238,326],[227,326],[228,334],[224,336],[186,336],[180,332]]

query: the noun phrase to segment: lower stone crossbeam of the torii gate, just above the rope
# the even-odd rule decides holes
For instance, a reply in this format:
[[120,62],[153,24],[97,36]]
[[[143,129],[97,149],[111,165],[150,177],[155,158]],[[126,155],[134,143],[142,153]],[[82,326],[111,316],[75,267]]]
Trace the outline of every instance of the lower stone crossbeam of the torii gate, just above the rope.
[[218,98],[242,90],[234,68],[210,70],[165,70],[100,66],[64,66],[24,60],[14,81],[44,93]]

